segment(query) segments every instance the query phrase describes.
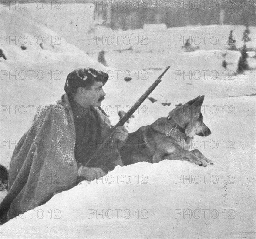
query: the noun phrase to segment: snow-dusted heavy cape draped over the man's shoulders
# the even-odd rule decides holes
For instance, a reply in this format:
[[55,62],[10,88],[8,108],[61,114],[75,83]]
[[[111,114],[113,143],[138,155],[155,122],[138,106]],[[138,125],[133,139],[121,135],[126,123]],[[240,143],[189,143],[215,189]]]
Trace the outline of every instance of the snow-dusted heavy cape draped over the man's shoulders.
[[[100,128],[103,139],[111,128],[110,121],[98,107],[93,107],[92,115],[95,118],[92,131],[98,132]],[[91,140],[96,140],[95,135],[92,133]],[[64,94],[61,100],[37,113],[31,128],[15,147],[8,194],[0,204],[1,216],[10,220],[44,204],[54,193],[76,186],[75,138],[73,114]]]

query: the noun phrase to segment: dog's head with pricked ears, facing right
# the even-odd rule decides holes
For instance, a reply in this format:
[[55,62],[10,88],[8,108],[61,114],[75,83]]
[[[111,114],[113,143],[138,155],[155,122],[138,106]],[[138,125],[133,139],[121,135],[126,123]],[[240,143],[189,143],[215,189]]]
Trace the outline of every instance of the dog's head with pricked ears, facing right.
[[204,97],[198,96],[184,105],[178,105],[169,113],[175,123],[185,129],[185,134],[189,137],[194,135],[206,137],[212,133],[203,122],[201,106]]

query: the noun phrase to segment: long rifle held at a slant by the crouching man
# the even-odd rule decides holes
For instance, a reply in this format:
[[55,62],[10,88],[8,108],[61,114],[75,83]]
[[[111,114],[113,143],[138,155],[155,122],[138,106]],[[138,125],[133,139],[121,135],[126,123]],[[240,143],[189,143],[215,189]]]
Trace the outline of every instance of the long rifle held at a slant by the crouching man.
[[[138,109],[138,107],[143,103],[143,101],[150,95],[150,93],[152,93],[153,90],[155,90],[155,87],[158,86],[158,84],[162,81],[161,78],[164,76],[164,74],[169,70],[170,66],[166,67],[166,69],[164,70],[164,72],[157,78],[157,80],[155,80],[155,82],[149,86],[148,90],[145,91],[145,93],[136,101],[136,103],[131,107],[131,109],[121,118],[121,120],[119,120],[119,122],[112,128],[112,133],[106,137],[103,141],[103,147],[106,145],[106,143],[108,142],[108,140],[110,140],[112,138],[112,136],[115,133],[115,129],[118,126],[123,126],[125,124],[125,122],[132,116],[132,114]],[[98,155],[100,154],[102,148],[99,148],[92,156],[91,158],[88,160],[88,162],[85,164],[85,166],[88,165],[88,163],[91,162],[91,160],[95,160],[98,159]]]

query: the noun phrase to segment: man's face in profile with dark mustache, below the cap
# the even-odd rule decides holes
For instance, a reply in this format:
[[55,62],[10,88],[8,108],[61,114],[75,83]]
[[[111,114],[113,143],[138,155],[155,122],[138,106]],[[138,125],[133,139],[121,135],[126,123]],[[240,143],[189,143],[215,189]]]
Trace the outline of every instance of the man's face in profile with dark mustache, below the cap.
[[102,87],[103,83],[96,81],[89,90],[83,88],[81,97],[84,106],[101,106],[101,102],[106,95]]

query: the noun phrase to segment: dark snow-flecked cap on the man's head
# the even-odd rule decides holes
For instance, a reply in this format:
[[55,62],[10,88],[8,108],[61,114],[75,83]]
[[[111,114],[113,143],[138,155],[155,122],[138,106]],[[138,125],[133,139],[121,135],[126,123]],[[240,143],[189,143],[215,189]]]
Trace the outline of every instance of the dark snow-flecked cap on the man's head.
[[68,94],[74,94],[79,87],[90,88],[95,82],[102,82],[103,85],[108,80],[108,74],[93,68],[79,68],[67,75],[64,90]]

